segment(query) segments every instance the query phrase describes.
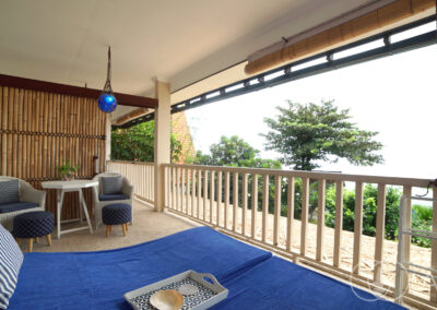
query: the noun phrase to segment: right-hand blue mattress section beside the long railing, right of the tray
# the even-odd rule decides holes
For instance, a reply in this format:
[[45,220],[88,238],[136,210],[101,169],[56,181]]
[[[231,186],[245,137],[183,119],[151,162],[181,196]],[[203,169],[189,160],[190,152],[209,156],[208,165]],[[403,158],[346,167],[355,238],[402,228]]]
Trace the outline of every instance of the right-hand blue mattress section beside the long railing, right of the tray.
[[276,257],[222,284],[229,295],[211,309],[405,309]]

